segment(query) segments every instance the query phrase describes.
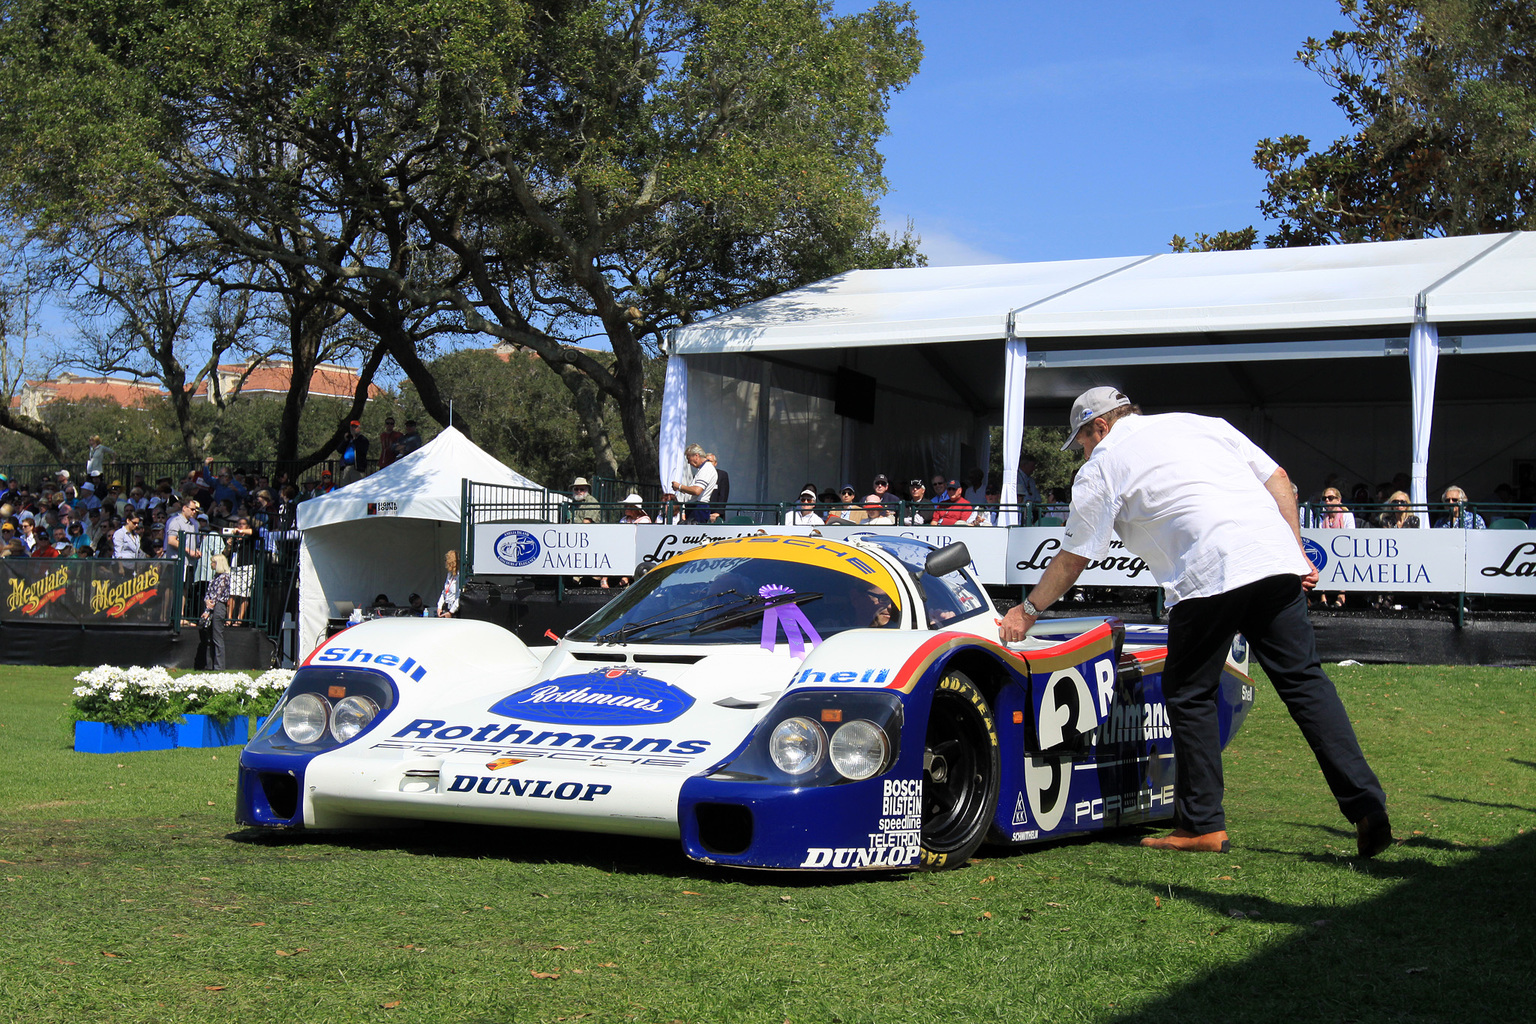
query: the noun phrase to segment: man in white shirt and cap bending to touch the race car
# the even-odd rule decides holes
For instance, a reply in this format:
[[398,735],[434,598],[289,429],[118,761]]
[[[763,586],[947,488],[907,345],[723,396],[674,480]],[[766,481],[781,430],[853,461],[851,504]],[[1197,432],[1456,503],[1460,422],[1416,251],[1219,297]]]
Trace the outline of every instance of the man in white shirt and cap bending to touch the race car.
[[1078,396],[1066,448],[1087,462],[1072,482],[1061,551],[1023,605],[1008,611],[1003,642],[1020,640],[1061,597],[1111,534],[1141,557],[1169,594],[1163,700],[1178,777],[1175,829],[1141,840],[1172,851],[1226,852],[1217,691],[1232,636],[1247,637],[1322,768],[1339,811],[1355,823],[1361,857],[1392,844],[1385,795],[1322,672],[1304,590],[1318,571],[1301,548],[1290,477],[1224,419],[1141,416],[1112,387]]

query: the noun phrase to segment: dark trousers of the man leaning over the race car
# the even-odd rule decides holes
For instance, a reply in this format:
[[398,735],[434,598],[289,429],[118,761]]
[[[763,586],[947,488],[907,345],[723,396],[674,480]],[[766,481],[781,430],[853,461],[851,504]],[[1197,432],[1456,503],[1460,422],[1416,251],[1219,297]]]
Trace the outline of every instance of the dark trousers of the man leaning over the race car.
[[1235,633],[1247,637],[1301,728],[1344,817],[1359,821],[1385,811],[1381,783],[1366,763],[1333,680],[1322,671],[1298,577],[1270,576],[1215,597],[1181,600],[1167,625],[1163,700],[1178,763],[1174,808],[1180,827],[1200,834],[1226,829],[1217,689]]

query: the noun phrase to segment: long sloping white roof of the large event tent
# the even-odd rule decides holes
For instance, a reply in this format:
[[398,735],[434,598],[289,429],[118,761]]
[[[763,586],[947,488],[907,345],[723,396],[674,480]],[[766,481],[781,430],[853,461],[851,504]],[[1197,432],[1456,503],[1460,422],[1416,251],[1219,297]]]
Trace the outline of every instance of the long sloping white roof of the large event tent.
[[673,333],[676,352],[785,352],[1536,318],[1536,235],[854,270]]

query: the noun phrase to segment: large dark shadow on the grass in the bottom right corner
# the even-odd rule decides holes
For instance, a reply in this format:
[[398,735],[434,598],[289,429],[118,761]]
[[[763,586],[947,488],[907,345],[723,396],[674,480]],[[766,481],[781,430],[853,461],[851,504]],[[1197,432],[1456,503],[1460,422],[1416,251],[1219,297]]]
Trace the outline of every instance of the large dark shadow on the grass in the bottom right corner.
[[[1213,967],[1120,1021],[1468,1021],[1530,1019],[1536,961],[1536,834],[1499,846],[1455,847],[1435,864],[1410,838],[1375,861],[1333,857],[1339,870],[1395,875],[1401,884],[1367,903],[1319,907],[1252,894],[1174,886],[1172,897],[1229,927],[1301,929],[1264,953]],[[1319,857],[1318,860],[1324,860]],[[1167,898],[1167,884],[1121,880]]]

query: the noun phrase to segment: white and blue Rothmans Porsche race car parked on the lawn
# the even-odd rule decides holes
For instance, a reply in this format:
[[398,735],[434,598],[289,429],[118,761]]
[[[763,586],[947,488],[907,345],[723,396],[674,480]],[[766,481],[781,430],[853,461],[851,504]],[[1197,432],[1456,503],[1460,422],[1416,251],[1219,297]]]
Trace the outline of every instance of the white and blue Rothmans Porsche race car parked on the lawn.
[[[998,643],[963,543],[684,551],[553,646],[462,619],[346,629],[240,758],[260,827],[467,821],[668,837],[699,861],[940,869],[1172,817],[1166,631]],[[1253,702],[1241,637],[1223,743]]]

